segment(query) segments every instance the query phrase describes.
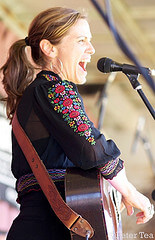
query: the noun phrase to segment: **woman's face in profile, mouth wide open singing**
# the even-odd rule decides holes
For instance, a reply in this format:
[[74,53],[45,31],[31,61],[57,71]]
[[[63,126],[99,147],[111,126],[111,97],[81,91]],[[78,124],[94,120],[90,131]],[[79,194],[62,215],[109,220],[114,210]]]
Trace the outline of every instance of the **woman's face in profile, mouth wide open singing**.
[[[68,31],[67,35],[56,45],[57,56],[55,66],[60,61],[63,66],[59,76],[76,84],[86,82],[86,65],[91,60],[95,50],[91,44],[91,32],[85,19],[79,19]],[[58,68],[58,67],[57,67]]]

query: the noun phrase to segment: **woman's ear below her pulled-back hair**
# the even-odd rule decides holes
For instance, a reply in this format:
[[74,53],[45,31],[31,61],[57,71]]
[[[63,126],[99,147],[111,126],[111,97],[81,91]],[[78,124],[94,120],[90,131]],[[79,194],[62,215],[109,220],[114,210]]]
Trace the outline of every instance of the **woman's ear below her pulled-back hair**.
[[56,56],[55,47],[47,39],[42,39],[39,43],[40,49],[47,56],[54,58]]

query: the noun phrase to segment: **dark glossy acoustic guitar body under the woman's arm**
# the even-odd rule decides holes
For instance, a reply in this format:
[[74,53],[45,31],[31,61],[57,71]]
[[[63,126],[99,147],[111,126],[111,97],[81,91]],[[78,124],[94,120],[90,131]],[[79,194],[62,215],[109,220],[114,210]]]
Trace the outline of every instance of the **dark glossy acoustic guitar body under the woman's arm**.
[[[65,191],[67,204],[93,227],[92,240],[122,239],[120,195],[97,169],[67,169]],[[84,239],[72,232],[71,238]]]

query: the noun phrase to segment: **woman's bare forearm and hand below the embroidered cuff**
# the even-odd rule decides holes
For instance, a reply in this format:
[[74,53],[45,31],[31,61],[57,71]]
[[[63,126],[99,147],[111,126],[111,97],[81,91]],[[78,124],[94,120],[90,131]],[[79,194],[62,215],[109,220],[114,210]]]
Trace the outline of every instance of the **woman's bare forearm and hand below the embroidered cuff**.
[[108,182],[122,194],[122,202],[129,216],[134,213],[134,208],[140,210],[136,214],[137,224],[146,223],[153,217],[154,206],[146,196],[138,192],[128,181],[125,169],[122,169],[112,180],[108,179]]

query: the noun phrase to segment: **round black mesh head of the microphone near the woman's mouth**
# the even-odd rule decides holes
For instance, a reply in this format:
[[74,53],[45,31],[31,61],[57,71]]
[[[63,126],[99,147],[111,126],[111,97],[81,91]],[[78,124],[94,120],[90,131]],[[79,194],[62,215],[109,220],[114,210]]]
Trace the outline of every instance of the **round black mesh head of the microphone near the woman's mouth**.
[[110,67],[111,67],[112,62],[113,62],[113,60],[110,58],[101,58],[98,60],[97,68],[101,72],[109,73],[109,72],[111,72]]

